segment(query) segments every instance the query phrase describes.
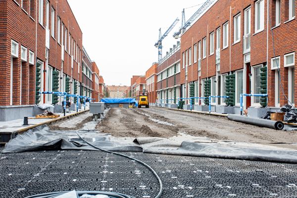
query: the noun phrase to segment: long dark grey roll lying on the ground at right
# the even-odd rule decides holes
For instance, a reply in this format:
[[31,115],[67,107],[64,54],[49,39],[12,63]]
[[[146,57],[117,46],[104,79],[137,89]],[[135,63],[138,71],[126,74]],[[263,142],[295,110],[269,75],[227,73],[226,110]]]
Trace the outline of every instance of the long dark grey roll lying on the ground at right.
[[266,119],[247,117],[247,116],[236,115],[236,114],[229,114],[227,117],[229,120],[256,125],[259,127],[267,127],[275,130],[282,130],[284,128],[284,123],[282,123],[281,121],[266,120]]

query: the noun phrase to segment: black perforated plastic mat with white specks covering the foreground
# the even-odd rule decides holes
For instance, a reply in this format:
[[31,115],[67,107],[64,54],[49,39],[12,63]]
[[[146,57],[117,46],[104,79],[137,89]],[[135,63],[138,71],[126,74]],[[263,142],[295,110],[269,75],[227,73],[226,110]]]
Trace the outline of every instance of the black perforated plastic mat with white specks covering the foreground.
[[[163,182],[161,198],[297,197],[297,164],[119,153],[157,172]],[[103,151],[0,153],[0,198],[71,190],[153,198],[158,188],[157,179],[145,166]]]

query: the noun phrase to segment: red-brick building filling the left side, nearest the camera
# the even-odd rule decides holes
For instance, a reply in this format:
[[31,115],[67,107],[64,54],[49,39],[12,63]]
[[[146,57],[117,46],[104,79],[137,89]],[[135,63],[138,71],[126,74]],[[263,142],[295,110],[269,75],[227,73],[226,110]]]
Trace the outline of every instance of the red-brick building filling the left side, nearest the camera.
[[1,0],[0,16],[0,121],[61,102],[40,91],[91,96],[92,64],[67,0]]

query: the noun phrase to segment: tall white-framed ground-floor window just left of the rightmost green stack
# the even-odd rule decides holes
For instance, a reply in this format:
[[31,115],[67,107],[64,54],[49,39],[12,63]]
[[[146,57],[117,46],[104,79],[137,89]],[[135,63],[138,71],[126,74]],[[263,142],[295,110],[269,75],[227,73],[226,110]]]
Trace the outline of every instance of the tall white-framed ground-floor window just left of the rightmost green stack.
[[[261,73],[261,70],[260,68],[262,67],[262,65],[257,65],[257,66],[254,66],[252,67],[251,69],[251,74],[252,74],[252,77],[251,77],[251,94],[261,94],[260,93],[260,90],[261,87],[260,87],[260,73]],[[259,106],[260,105],[260,98],[259,97],[251,97],[251,105],[256,105],[256,106]]]

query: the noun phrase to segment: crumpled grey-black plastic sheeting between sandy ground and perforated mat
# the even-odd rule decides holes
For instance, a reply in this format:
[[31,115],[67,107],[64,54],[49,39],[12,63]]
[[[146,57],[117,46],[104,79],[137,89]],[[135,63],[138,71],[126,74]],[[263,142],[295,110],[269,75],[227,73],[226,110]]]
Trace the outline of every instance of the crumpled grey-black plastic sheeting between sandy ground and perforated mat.
[[[98,134],[94,131],[80,131],[81,136],[93,145],[110,151],[143,151],[145,153],[174,154],[226,159],[245,159],[282,163],[297,163],[297,150],[236,148],[205,143],[182,142],[162,138],[137,138],[136,140],[112,139],[109,134]],[[46,125],[36,127],[11,139],[2,153],[67,149],[97,150],[80,140],[76,131],[49,131]]]

